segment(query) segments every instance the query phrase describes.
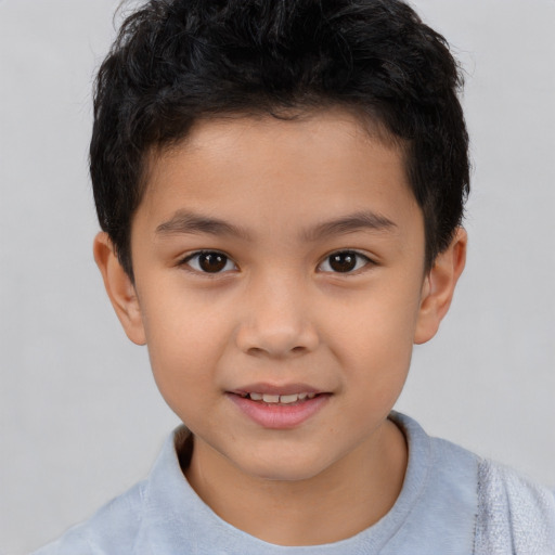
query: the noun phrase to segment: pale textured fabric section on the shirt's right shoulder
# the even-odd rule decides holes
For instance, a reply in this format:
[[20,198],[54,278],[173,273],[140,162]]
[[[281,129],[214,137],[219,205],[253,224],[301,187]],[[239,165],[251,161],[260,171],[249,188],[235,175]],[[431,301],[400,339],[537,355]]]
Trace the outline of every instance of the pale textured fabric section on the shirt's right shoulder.
[[553,553],[555,496],[515,470],[478,463],[476,554]]

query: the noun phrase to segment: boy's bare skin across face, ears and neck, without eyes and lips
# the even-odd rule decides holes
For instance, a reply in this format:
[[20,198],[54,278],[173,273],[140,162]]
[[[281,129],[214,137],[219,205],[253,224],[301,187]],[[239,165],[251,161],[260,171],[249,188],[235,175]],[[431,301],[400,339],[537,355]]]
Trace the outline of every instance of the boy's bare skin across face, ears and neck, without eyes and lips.
[[[222,271],[203,272],[198,250],[225,255]],[[357,264],[337,272],[330,256],[346,250]],[[223,519],[282,545],[351,537],[395,504],[408,455],[387,416],[465,251],[461,229],[425,272],[402,153],[339,109],[198,122],[151,159],[134,284],[106,234],[94,243],[127,335],[147,345],[194,434],[190,483]],[[300,425],[268,428],[231,400],[255,383],[302,384],[325,401]]]

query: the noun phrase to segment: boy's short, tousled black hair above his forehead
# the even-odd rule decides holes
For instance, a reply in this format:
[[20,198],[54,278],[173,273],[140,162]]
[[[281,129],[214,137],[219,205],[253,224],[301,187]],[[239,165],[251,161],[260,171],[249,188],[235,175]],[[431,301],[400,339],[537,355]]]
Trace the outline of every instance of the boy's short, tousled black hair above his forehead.
[[403,144],[426,267],[469,188],[462,72],[400,0],[150,0],[100,67],[90,172],[99,221],[133,279],[130,234],[153,149],[201,118],[345,106]]

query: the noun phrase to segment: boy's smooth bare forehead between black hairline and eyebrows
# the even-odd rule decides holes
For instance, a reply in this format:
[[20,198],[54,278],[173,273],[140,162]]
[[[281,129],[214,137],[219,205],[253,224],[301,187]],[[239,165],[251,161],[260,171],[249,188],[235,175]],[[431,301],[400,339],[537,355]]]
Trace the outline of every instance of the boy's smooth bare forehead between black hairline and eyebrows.
[[152,156],[138,217],[158,227],[179,210],[199,210],[293,229],[361,210],[410,220],[415,207],[402,147],[337,109],[198,121]]

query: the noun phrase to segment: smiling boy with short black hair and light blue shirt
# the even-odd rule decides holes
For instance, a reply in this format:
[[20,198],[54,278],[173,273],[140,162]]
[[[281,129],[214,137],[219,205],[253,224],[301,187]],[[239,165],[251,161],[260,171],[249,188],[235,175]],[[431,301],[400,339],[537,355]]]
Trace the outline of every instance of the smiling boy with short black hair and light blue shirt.
[[391,413],[464,268],[443,39],[398,1],[151,1],[100,69],[94,255],[186,428],[40,553],[552,553],[551,494]]

